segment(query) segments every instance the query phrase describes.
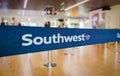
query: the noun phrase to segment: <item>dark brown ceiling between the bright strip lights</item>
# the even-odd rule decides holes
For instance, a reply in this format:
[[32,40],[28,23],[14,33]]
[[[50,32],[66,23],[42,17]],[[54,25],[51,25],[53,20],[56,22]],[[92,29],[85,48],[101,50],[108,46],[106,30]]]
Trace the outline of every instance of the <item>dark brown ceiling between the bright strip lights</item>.
[[[44,10],[47,6],[52,5],[58,10],[60,4],[65,3],[65,7],[69,7],[83,0],[28,0],[26,10]],[[98,9],[104,6],[112,6],[120,4],[120,0],[90,0],[81,7],[87,11]],[[23,9],[24,0],[0,0],[0,9]]]

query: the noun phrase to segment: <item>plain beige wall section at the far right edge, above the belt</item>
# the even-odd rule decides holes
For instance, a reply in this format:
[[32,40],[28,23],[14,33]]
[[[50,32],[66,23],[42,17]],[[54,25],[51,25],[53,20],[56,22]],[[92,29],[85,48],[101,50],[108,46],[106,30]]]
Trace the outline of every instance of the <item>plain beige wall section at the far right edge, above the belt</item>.
[[111,7],[111,10],[106,11],[106,28],[120,29],[120,4]]

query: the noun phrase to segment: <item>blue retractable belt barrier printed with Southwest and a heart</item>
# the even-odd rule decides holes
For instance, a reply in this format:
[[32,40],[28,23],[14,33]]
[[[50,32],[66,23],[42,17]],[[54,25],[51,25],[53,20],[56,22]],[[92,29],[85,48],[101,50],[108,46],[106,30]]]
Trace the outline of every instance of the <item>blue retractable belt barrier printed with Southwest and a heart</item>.
[[120,30],[0,26],[0,57],[120,41]]

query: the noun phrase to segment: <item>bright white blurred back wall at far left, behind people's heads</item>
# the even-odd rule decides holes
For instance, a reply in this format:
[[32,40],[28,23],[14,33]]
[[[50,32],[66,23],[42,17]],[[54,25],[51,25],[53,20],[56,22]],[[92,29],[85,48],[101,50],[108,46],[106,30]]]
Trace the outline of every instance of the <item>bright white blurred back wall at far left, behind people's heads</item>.
[[9,9],[7,11],[0,10],[0,18],[5,18],[8,23],[11,23],[12,17],[16,18],[17,22],[26,23],[25,25],[30,25],[35,23],[37,25],[43,26],[44,24],[44,12],[42,11],[32,11],[32,10],[13,10]]

